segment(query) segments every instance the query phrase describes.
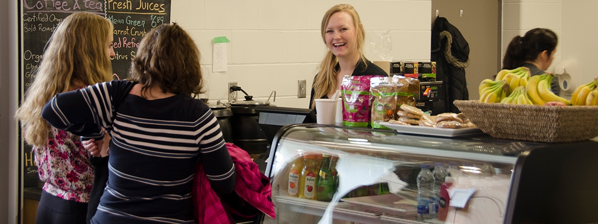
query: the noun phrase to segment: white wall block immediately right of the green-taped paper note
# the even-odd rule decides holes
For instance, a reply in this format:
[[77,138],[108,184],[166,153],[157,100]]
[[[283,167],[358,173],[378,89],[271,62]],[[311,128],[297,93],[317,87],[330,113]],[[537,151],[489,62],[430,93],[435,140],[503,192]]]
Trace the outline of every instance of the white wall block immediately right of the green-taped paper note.
[[280,63],[281,32],[233,31],[233,38],[233,64]]

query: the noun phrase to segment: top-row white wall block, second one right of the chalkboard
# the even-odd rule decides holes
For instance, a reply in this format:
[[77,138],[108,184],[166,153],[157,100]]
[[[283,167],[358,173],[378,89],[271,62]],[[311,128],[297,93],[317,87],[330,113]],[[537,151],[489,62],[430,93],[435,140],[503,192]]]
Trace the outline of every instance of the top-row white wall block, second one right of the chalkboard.
[[257,28],[257,1],[205,0],[205,29],[254,30]]

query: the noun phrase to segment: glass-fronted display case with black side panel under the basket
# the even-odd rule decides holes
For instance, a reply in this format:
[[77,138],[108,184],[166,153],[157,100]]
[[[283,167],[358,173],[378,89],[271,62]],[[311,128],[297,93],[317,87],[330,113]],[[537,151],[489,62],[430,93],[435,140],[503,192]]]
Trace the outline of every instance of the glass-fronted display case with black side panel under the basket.
[[[596,203],[572,200],[588,195],[598,198],[598,190],[592,187],[598,185],[598,180],[575,179],[576,176],[565,174],[579,169],[598,173],[598,167],[592,165],[592,158],[598,158],[598,151],[594,150],[598,149],[597,140],[538,143],[494,139],[485,134],[446,137],[334,125],[288,125],[273,140],[266,175],[273,187],[276,223],[453,223],[450,220],[460,220],[454,223],[521,223],[529,220],[558,223],[566,219],[598,222],[598,214],[590,212],[598,210]],[[339,182],[333,197],[335,202],[287,195],[290,167],[306,154],[328,154],[338,158],[335,168]],[[365,199],[389,191],[413,204],[417,200],[416,177],[420,165],[440,163],[446,166],[453,162],[459,164],[460,172],[467,177],[464,180],[470,180],[472,187],[478,188],[472,198],[493,197],[495,201],[470,200],[468,210],[452,208],[449,216],[453,217],[441,222],[438,219],[419,221],[416,213],[389,212],[394,206],[388,204],[389,201],[385,202],[388,209],[382,209],[341,199],[364,196]],[[381,188],[381,183],[387,184],[388,189]],[[483,191],[482,185],[495,190]],[[563,191],[578,186],[584,191]],[[365,195],[357,195],[358,188],[366,189]],[[498,192],[498,195],[484,195],[489,194],[487,192]],[[550,194],[554,192],[559,194]],[[487,215],[480,209],[494,206],[492,209],[495,210],[496,200],[502,204],[498,214]],[[554,207],[559,202],[586,212],[580,215],[570,210],[557,211]],[[554,212],[545,214],[547,210]],[[469,214],[465,214],[467,212]]]

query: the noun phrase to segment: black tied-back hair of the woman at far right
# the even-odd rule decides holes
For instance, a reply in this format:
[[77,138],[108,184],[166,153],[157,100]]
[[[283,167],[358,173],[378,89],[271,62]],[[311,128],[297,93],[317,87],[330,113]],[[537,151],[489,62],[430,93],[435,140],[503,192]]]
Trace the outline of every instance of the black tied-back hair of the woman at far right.
[[542,51],[548,51],[548,55],[550,55],[557,47],[558,42],[559,38],[556,33],[544,28],[531,29],[524,36],[515,36],[505,51],[502,69],[521,67],[527,61],[536,60]]

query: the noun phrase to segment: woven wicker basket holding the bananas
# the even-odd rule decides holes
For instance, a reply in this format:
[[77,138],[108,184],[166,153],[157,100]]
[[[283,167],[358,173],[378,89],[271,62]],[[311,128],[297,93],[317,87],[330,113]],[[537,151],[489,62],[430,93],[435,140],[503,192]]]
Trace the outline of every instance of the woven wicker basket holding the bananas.
[[539,106],[454,100],[475,125],[498,139],[570,142],[598,136],[598,106]]

